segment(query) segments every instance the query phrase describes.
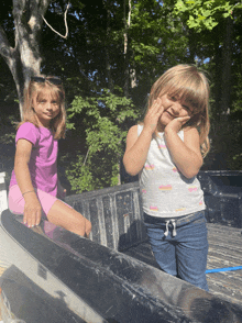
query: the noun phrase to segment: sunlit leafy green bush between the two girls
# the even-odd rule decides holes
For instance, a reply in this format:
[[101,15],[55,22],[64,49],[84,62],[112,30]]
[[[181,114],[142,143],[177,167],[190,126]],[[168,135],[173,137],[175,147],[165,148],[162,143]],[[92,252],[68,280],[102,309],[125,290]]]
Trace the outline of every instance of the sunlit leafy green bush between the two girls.
[[[90,191],[119,183],[119,163],[129,122],[138,118],[130,99],[105,89],[94,97],[76,97],[68,109],[68,129],[85,127],[87,151],[66,170],[72,190]],[[70,122],[75,119],[75,122]]]

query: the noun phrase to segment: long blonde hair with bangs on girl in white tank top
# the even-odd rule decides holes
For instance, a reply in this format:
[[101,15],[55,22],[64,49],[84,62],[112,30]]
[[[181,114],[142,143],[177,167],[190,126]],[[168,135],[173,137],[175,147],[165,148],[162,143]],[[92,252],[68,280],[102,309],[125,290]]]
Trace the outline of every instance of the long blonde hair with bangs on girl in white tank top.
[[209,152],[209,83],[205,74],[194,65],[177,65],[165,71],[152,86],[147,110],[154,100],[164,94],[176,97],[194,110],[189,122],[184,127],[197,127],[200,136],[201,153]]

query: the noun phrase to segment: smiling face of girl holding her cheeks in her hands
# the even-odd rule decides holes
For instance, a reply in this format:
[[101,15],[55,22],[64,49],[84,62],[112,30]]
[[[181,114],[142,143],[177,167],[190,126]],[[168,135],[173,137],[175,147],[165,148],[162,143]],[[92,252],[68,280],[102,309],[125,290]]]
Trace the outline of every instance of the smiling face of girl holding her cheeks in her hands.
[[193,107],[179,99],[164,94],[161,97],[164,112],[160,116],[160,125],[165,127],[170,121],[180,116],[191,116]]

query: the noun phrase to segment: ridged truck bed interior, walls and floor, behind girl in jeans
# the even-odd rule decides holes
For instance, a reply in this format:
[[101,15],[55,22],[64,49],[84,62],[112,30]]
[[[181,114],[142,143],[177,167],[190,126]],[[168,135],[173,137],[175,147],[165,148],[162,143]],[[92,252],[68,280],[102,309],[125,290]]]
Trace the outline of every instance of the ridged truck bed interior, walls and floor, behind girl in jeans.
[[[207,269],[242,266],[242,171],[200,171],[207,204]],[[92,223],[91,240],[158,267],[143,225],[138,182],[76,194],[67,203]],[[207,274],[210,292],[242,307],[242,269]]]

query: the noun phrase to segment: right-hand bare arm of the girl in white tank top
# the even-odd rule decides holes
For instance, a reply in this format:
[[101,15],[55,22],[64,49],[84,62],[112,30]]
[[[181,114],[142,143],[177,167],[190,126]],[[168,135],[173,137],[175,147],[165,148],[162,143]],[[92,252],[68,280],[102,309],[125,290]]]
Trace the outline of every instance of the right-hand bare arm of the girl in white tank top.
[[[174,121],[187,121],[187,119],[178,118]],[[180,125],[184,123],[182,121]],[[172,155],[172,159],[179,171],[187,178],[196,176],[204,163],[200,153],[199,134],[195,127],[184,130],[184,142],[177,134],[177,129],[173,127],[170,122],[165,127],[165,140],[167,148]]]

